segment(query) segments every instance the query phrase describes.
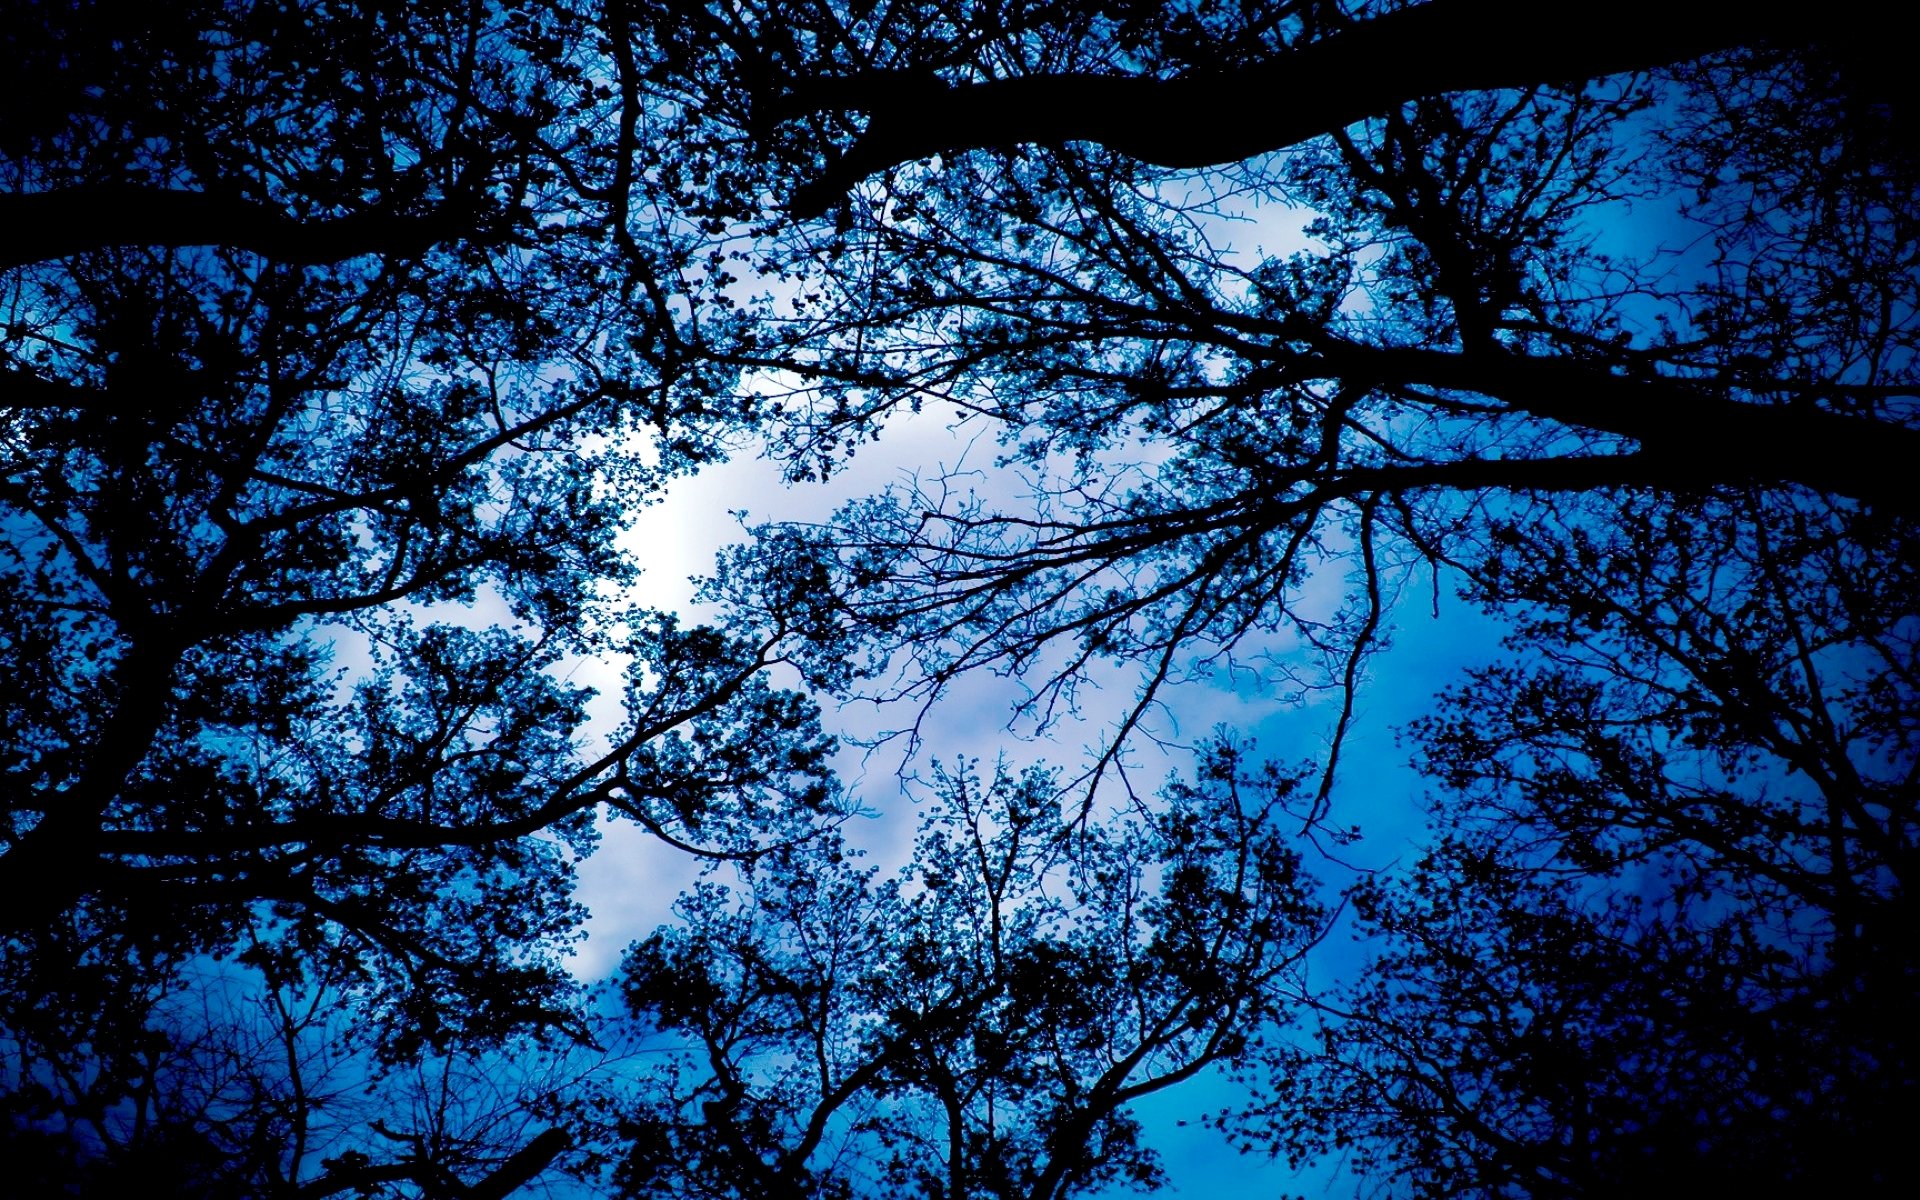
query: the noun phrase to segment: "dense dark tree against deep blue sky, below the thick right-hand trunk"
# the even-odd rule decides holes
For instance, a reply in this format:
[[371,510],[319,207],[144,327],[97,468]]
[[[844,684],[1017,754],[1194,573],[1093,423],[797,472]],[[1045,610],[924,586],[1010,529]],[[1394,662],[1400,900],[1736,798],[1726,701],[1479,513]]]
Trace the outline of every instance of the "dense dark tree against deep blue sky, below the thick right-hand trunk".
[[1584,516],[1496,526],[1511,659],[1409,730],[1434,845],[1356,893],[1379,958],[1242,1133],[1319,1114],[1415,1194],[1891,1192],[1910,543],[1807,497]]

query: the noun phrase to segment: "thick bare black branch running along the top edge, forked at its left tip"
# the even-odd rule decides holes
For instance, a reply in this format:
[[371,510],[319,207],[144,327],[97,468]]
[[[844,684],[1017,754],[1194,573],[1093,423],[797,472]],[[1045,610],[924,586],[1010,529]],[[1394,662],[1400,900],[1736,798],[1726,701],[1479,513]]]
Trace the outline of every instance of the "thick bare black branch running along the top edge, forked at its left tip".
[[872,113],[852,148],[795,192],[793,213],[812,217],[868,175],[941,152],[1098,142],[1164,167],[1229,163],[1421,96],[1617,75],[1753,42],[1776,33],[1764,13],[1730,0],[1620,0],[1563,25],[1534,0],[1428,0],[1210,75],[956,86],[874,73],[801,84],[776,115]]

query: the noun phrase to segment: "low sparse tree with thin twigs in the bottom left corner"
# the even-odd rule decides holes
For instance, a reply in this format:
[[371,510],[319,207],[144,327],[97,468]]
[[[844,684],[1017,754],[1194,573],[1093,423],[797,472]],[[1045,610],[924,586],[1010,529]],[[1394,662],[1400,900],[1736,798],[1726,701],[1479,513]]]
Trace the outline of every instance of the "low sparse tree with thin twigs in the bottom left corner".
[[[515,1037],[378,1066],[340,979],[200,964],[159,998],[142,1077],[88,1102],[88,1064],[35,1073],[0,1133],[19,1196],[507,1196],[574,1148],[607,1054]],[[574,1156],[578,1160],[578,1156]],[[591,1160],[588,1160],[591,1162]],[[580,1162],[570,1162],[578,1169]]]

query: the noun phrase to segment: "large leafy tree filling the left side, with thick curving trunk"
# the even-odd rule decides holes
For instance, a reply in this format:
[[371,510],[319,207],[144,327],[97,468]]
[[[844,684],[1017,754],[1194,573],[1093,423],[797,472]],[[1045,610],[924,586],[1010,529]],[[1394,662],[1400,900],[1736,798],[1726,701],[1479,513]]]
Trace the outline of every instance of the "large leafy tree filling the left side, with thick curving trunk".
[[[597,814],[753,852],[831,808],[768,645],[620,601],[630,513],[718,442],[676,411],[591,17],[8,8],[8,1127],[109,1165],[286,1133],[292,1075],[163,1112],[217,1050],[169,1016],[207,962],[338,1010],[367,1075],[584,1037]],[[601,735],[564,670],[616,653]],[[250,1194],[324,1190],[248,1152]]]

